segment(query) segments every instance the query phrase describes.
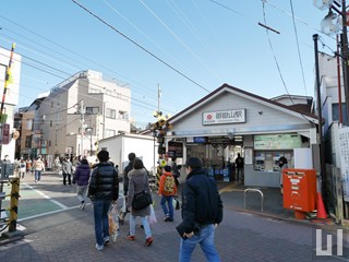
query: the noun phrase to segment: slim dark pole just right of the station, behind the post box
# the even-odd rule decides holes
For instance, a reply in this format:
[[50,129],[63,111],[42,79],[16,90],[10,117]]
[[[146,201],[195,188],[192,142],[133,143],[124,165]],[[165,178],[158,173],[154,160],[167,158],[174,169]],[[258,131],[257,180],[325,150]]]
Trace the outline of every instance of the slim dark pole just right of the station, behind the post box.
[[320,69],[318,69],[318,47],[317,40],[318,35],[313,35],[314,40],[314,52],[315,52],[315,79],[316,79],[316,100],[317,100],[317,117],[318,117],[318,142],[320,142],[320,175],[321,175],[321,184],[322,184],[322,195],[324,203],[326,203],[327,198],[327,181],[326,181],[326,171],[325,171],[325,152],[323,143],[323,116],[322,116],[322,100],[321,100],[321,91],[320,91]]

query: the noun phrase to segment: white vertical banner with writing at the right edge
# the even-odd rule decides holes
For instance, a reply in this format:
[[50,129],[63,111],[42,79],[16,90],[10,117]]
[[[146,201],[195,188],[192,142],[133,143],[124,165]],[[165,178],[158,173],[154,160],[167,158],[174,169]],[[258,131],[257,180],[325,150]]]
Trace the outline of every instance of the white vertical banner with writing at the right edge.
[[342,195],[349,202],[349,128],[338,130]]

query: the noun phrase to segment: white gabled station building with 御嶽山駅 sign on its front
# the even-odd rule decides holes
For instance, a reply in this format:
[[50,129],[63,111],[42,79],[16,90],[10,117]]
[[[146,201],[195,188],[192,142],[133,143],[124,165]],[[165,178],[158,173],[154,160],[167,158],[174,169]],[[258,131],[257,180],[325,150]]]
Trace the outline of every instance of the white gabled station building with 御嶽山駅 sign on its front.
[[228,84],[168,121],[173,129],[166,135],[167,154],[180,155],[181,163],[196,156],[215,178],[227,175],[238,153],[244,157],[245,186],[279,187],[280,156],[290,168],[320,171],[316,116]]

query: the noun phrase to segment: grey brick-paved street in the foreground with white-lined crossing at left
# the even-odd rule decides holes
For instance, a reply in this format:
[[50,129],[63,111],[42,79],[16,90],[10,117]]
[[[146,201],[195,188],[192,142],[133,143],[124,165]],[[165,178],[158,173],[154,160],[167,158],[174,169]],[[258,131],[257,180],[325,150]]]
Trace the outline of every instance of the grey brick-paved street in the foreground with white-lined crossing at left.
[[[28,187],[21,184],[20,224],[26,229],[25,237],[15,242],[0,246],[0,261],[178,261],[179,237],[174,226],[180,222],[176,212],[174,223],[163,222],[163,212],[155,206],[158,223],[153,226],[154,243],[144,246],[144,233],[136,231],[136,241],[124,239],[128,226],[120,226],[117,242],[110,243],[103,252],[95,249],[93,210],[77,209],[74,188],[63,188],[60,177],[46,175],[43,181],[34,183],[24,179]],[[24,193],[24,190],[28,192]],[[315,255],[315,227],[303,223],[258,216],[248,212],[237,212],[232,205],[232,193],[221,193],[225,203],[224,223],[216,230],[216,246],[222,261],[349,261],[348,231],[344,233],[344,255]],[[159,203],[156,195],[156,202]],[[46,198],[46,199],[45,199]],[[49,198],[49,199],[47,199]],[[50,204],[47,204],[49,202]],[[37,203],[24,213],[26,205]],[[46,204],[45,204],[46,203]],[[45,206],[46,215],[29,215],[29,211]],[[27,214],[27,215],[24,215]],[[26,217],[25,217],[26,216]],[[336,230],[323,227],[325,235],[333,235],[336,245]],[[336,246],[334,247],[336,253]],[[197,247],[192,261],[205,261]]]

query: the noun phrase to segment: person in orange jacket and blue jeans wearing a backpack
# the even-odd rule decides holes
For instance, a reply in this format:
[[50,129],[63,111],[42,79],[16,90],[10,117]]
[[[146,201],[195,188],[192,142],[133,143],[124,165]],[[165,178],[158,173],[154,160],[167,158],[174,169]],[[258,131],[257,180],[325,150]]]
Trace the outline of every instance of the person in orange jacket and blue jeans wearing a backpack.
[[[158,194],[161,196],[161,207],[165,214],[165,222],[173,221],[173,198],[177,194],[177,186],[170,166],[165,166],[160,177]],[[167,204],[166,204],[167,202]]]

